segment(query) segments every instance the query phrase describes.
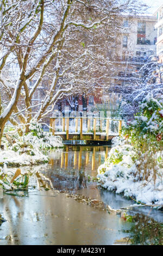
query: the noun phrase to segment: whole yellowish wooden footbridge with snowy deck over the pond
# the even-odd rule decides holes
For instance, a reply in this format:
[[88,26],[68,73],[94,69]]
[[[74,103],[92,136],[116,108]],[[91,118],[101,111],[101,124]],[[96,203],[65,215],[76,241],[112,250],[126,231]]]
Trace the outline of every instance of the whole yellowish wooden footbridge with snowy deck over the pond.
[[[109,141],[120,135],[122,121],[97,117],[52,117],[50,118],[50,131],[66,141]],[[111,131],[111,126],[116,128],[116,132]]]

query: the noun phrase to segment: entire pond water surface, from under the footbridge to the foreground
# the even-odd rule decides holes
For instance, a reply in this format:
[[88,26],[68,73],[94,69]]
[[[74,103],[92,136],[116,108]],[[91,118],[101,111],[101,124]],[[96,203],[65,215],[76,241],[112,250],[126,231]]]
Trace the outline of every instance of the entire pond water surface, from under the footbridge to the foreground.
[[54,191],[0,199],[0,214],[7,220],[0,227],[0,245],[163,244],[163,212],[132,207],[117,214],[114,210],[135,202],[98,186],[97,168],[109,150],[65,145],[51,153],[39,171]]

